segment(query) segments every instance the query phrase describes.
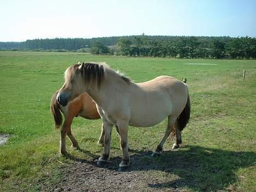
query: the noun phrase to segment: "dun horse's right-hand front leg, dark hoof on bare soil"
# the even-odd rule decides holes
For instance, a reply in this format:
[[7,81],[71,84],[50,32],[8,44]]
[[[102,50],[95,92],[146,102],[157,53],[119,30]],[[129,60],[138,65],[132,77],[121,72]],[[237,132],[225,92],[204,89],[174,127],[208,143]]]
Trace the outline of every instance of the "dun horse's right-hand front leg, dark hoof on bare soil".
[[130,156],[129,156],[129,145],[128,145],[128,122],[127,121],[120,121],[118,124],[118,130],[120,135],[120,144],[121,148],[123,149],[123,159],[119,164],[119,171],[126,170],[127,167],[131,165]]

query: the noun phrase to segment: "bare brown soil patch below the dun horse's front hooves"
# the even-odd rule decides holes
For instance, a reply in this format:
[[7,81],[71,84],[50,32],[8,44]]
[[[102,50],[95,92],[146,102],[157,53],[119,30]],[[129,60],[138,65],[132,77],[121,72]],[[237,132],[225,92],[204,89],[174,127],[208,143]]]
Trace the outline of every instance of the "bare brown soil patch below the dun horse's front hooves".
[[[96,160],[76,159],[73,164],[63,165],[61,182],[49,184],[50,177],[40,181],[41,191],[186,191],[181,179],[171,174],[171,167],[154,163],[152,152],[132,155],[131,167],[118,171],[121,158],[110,159],[105,167],[97,167]],[[143,158],[144,157],[144,158]],[[146,159],[145,159],[146,158]],[[148,161],[147,159],[153,159]],[[176,164],[177,165],[177,164]],[[176,167],[177,168],[177,167]]]

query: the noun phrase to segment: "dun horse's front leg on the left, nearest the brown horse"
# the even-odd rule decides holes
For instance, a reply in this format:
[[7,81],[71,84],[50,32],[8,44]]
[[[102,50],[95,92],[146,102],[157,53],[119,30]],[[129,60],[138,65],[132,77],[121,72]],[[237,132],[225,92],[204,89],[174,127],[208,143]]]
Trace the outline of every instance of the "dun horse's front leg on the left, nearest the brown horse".
[[110,150],[110,141],[111,141],[111,133],[113,129],[113,125],[103,121],[104,127],[104,152],[102,156],[98,159],[97,165],[104,166],[106,162],[109,160],[109,150]]

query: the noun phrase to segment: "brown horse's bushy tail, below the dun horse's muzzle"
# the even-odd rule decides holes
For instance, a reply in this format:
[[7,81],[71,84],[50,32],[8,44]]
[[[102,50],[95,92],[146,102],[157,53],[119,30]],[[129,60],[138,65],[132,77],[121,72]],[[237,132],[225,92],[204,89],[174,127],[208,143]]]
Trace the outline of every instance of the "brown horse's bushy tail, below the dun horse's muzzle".
[[58,94],[59,90],[55,92],[53,97],[51,97],[51,113],[53,114],[54,118],[54,124],[55,124],[55,129],[60,128],[62,124],[62,115],[60,112],[60,104],[56,100],[56,96]]

